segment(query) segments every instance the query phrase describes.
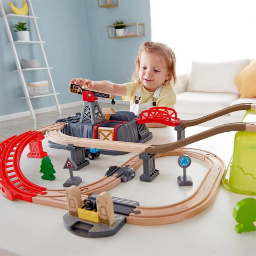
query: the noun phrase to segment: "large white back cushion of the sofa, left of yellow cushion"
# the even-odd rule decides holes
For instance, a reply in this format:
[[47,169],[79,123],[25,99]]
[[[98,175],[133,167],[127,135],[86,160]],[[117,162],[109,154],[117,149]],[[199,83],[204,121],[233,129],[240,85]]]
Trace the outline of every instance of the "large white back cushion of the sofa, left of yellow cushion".
[[229,62],[192,62],[188,92],[238,93],[234,79],[249,63],[249,59]]

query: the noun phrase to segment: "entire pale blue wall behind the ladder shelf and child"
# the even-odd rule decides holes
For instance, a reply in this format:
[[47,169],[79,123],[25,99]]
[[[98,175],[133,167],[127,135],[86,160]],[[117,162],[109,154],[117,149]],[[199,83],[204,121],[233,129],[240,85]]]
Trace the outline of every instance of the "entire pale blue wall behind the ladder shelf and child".
[[[115,1],[115,0],[113,0]],[[5,12],[11,13],[9,1],[2,0]],[[21,7],[22,0],[13,0]],[[86,77],[94,80],[109,79],[116,83],[129,81],[134,68],[134,58],[139,46],[149,41],[150,6],[149,0],[119,0],[119,6],[100,8],[97,0],[33,0],[34,12],[39,19],[38,27],[44,44],[55,89],[60,92],[59,103],[80,100],[68,91],[73,77]],[[146,25],[145,37],[111,39],[107,37],[107,26],[116,20],[143,22]],[[17,20],[10,20],[12,26]],[[28,21],[30,39],[37,41],[33,21]],[[13,31],[13,29],[12,29]],[[16,38],[13,32],[14,40]],[[0,22],[0,115],[28,110],[9,39],[4,23]],[[19,59],[36,58],[44,66],[39,46],[17,46]],[[45,70],[24,72],[26,82],[47,79]],[[32,100],[34,109],[54,105],[53,97]]]

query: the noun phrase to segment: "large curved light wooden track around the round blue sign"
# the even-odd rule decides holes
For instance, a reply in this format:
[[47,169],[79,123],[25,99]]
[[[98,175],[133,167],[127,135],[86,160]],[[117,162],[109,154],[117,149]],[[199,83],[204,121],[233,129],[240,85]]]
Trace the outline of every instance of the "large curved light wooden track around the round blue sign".
[[183,201],[175,204],[159,207],[137,206],[133,211],[140,214],[130,213],[126,222],[133,225],[163,225],[189,219],[204,211],[214,200],[221,184],[222,175],[225,172],[225,163],[210,152],[198,149],[178,149],[160,156],[174,155],[175,153],[188,154],[204,161],[208,171],[195,193]]

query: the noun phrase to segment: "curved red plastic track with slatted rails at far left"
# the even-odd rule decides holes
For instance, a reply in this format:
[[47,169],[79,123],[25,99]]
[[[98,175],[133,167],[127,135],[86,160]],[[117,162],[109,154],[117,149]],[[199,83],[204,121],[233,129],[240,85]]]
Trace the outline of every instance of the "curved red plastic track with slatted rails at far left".
[[10,200],[19,198],[32,202],[37,194],[47,194],[46,188],[30,182],[20,170],[23,149],[40,134],[29,131],[0,143],[0,193]]

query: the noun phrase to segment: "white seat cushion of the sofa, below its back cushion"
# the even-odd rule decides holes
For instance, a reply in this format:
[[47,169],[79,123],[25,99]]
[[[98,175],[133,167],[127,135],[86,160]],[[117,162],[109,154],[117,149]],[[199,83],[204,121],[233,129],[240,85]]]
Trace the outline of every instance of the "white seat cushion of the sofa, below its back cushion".
[[182,92],[177,94],[174,108],[177,113],[207,115],[229,107],[238,98],[238,93]]

